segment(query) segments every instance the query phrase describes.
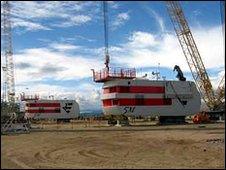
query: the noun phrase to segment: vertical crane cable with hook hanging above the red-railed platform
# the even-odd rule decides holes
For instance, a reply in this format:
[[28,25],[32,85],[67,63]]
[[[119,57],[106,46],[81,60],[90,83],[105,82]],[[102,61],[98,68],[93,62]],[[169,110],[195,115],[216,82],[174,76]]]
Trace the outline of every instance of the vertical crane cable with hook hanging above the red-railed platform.
[[108,16],[107,16],[107,2],[103,1],[103,17],[104,17],[104,45],[105,45],[105,65],[109,70],[109,53],[108,53]]

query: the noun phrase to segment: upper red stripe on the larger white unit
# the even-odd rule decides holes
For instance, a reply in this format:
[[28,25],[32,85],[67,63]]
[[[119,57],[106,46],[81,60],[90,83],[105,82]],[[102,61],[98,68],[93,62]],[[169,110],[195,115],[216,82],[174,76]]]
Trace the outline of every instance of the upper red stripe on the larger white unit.
[[104,88],[106,93],[164,93],[165,87],[162,86],[114,86]]

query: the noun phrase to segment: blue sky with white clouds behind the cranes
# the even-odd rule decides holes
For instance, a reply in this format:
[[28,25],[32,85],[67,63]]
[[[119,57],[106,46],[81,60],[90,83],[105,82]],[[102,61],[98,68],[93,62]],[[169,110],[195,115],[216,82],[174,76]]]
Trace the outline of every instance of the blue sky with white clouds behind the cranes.
[[[75,99],[81,110],[101,109],[103,84],[93,82],[91,69],[105,66],[102,1],[10,3],[16,95],[54,95]],[[216,88],[225,72],[220,2],[181,5]],[[136,68],[150,79],[159,71],[176,80],[173,67],[179,65],[193,81],[165,2],[108,1],[108,22],[111,67]]]

